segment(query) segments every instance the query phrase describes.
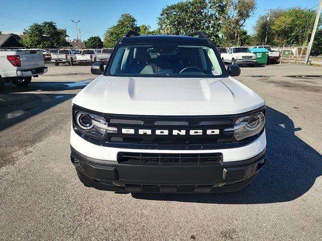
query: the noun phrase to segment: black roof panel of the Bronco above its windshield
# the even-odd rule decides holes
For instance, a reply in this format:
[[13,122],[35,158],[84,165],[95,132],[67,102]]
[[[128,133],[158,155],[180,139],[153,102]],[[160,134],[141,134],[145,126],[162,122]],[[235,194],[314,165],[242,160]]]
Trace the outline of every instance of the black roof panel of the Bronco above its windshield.
[[140,35],[126,37],[122,43],[185,43],[185,44],[209,44],[206,38],[196,38],[179,35]]

